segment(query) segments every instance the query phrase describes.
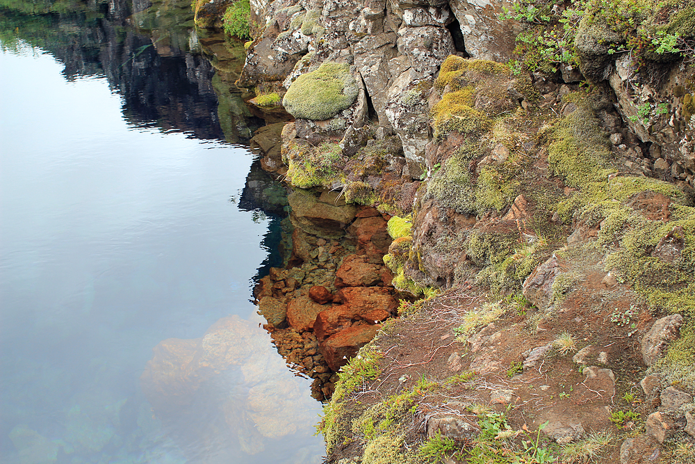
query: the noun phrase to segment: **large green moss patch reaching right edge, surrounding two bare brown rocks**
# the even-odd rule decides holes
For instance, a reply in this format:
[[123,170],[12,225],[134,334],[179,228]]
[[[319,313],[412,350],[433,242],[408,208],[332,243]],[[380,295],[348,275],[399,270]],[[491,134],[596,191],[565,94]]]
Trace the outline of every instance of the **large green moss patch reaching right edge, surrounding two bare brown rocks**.
[[[577,95],[573,95],[576,98]],[[608,254],[606,270],[615,269],[650,307],[673,312],[695,312],[695,209],[677,186],[646,177],[614,177],[605,134],[591,112],[591,102],[576,99],[580,109],[561,120],[551,136],[548,161],[566,184],[578,189],[558,205],[568,221],[598,227],[598,243]],[[656,221],[630,207],[641,192],[666,195],[671,220]],[[688,231],[680,257],[669,262],[652,256],[657,243],[673,230]]]

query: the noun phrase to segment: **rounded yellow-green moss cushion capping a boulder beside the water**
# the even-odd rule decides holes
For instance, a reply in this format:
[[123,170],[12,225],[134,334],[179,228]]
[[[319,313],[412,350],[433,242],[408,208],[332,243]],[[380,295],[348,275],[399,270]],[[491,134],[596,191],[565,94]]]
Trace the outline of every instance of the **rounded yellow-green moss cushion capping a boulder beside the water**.
[[327,120],[350,108],[357,93],[357,81],[350,74],[350,67],[325,62],[318,70],[297,77],[282,104],[295,118]]

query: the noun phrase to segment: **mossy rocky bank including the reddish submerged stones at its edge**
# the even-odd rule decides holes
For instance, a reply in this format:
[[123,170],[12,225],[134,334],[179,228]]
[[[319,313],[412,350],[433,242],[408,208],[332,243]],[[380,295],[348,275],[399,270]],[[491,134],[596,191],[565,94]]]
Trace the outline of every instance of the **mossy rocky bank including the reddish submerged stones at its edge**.
[[330,462],[693,462],[694,12],[252,1]]

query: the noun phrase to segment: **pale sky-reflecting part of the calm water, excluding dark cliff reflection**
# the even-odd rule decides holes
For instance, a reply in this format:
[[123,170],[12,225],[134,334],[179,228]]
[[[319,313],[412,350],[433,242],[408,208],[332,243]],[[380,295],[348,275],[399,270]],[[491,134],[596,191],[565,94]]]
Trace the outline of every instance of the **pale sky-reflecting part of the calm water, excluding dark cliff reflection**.
[[249,301],[252,154],[129,122],[112,88],[0,54],[0,462],[320,461]]

